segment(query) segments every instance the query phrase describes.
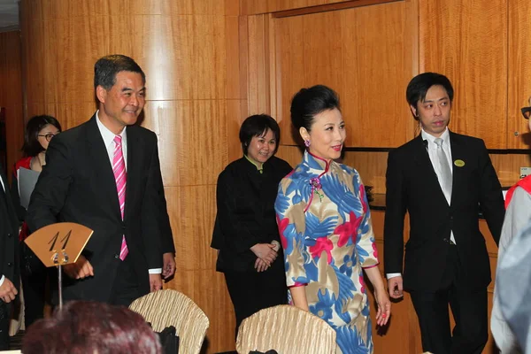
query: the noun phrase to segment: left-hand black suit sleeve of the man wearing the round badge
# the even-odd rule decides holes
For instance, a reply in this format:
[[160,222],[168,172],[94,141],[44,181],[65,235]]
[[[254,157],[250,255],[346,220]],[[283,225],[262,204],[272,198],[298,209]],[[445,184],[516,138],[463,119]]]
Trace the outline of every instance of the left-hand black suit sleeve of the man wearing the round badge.
[[386,189],[386,212],[383,227],[384,268],[385,273],[402,273],[406,206],[404,174],[396,151],[389,152]]

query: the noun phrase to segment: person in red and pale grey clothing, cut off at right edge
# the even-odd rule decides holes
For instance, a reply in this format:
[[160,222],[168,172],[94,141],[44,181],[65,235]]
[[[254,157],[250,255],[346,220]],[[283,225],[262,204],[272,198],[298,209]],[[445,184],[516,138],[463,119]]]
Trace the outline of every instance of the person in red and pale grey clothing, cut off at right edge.
[[[529,99],[531,105],[531,98]],[[525,119],[529,119],[531,107],[521,109]],[[529,130],[531,130],[531,120],[528,120]],[[502,227],[502,235],[498,247],[497,266],[500,266],[501,259],[504,256],[512,239],[521,232],[531,219],[531,175],[519,180],[505,196],[505,219]],[[499,278],[499,274],[496,278]],[[499,296],[501,289],[496,285],[494,287],[494,300],[492,313],[490,315],[490,329],[496,345],[502,354],[512,354],[523,352],[511,330],[511,327],[504,319],[501,311]]]

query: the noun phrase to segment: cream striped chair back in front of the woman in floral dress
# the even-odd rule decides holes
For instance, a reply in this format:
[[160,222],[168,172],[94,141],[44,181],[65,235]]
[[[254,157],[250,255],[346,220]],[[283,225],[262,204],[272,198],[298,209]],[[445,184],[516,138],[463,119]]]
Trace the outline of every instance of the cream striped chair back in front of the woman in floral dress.
[[335,330],[311,312],[281,304],[243,319],[238,330],[236,350],[279,354],[334,354]]

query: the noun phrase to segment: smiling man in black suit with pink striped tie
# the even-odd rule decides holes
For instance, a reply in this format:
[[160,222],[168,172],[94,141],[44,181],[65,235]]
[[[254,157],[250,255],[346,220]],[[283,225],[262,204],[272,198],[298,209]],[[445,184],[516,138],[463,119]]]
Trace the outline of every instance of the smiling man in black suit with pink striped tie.
[[161,289],[163,253],[173,256],[173,237],[157,136],[135,125],[145,75],[120,55],[100,58],[94,71],[99,109],[50,142],[27,225],[36,231],[76,222],[93,229],[77,262],[64,267],[64,298],[127,306]]

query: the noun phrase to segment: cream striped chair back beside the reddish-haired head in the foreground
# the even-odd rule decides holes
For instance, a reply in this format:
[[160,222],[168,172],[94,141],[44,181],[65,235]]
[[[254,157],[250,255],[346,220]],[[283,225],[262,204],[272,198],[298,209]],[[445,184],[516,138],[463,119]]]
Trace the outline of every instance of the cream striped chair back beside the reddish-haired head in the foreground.
[[137,298],[129,309],[150,322],[155,332],[173,326],[179,336],[179,354],[197,354],[203,345],[209,320],[188,296],[173,289]]

